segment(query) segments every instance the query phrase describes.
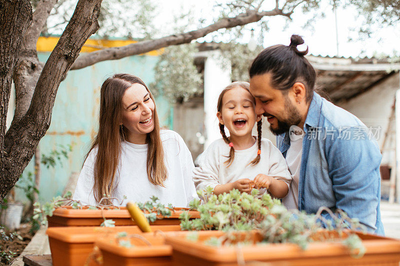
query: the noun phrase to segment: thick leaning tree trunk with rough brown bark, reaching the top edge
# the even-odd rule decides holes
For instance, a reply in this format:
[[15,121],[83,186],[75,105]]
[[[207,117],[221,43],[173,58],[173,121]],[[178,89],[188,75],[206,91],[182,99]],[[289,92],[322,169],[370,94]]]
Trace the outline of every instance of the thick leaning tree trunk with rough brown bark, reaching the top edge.
[[[32,101],[19,121],[12,121],[4,138],[7,166],[2,185],[11,189],[32,158],[41,137],[50,125],[55,95],[63,76],[79,54],[83,43],[98,29],[101,0],[79,0],[75,11],[51,52],[37,81]],[[6,191],[0,191],[2,199]]]

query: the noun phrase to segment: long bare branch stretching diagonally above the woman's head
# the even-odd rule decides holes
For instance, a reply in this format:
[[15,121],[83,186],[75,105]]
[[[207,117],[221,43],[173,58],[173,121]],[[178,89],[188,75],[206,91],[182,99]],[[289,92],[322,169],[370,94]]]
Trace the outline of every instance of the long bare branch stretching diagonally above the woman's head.
[[107,48],[91,53],[80,55],[72,64],[71,69],[80,69],[101,61],[120,59],[125,56],[145,53],[148,51],[160,49],[169,45],[178,45],[189,43],[191,40],[203,37],[210,32],[220,28],[231,28],[235,26],[245,25],[247,23],[256,22],[263,16],[273,16],[282,14],[281,10],[269,10],[262,12],[241,13],[235,17],[221,18],[215,23],[206,27],[192,30],[180,34],[173,34],[154,40],[144,40],[121,47]]

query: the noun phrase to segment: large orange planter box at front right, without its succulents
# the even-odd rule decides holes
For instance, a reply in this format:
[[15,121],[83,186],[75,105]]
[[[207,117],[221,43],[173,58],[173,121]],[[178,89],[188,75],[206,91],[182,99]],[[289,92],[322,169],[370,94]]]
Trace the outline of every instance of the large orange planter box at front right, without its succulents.
[[[295,244],[258,244],[238,247],[207,246],[203,242],[211,237],[220,237],[221,231],[197,232],[198,240],[186,239],[190,232],[175,232],[167,235],[165,243],[172,246],[174,266],[234,266],[245,262],[269,263],[268,265],[309,266],[309,265],[392,265],[400,262],[400,241],[374,235],[358,234],[366,248],[361,258],[349,255],[347,247],[339,242],[314,242],[306,250]],[[245,234],[245,233],[244,233]],[[259,243],[262,237],[258,233],[249,233],[250,242]]]

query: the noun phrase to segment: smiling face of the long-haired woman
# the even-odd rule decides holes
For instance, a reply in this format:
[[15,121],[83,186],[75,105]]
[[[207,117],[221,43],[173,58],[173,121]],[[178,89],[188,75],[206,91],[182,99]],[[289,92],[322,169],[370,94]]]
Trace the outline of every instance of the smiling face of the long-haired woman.
[[132,84],[122,96],[122,109],[122,125],[127,141],[144,144],[146,134],[154,129],[154,102],[149,92],[141,84]]

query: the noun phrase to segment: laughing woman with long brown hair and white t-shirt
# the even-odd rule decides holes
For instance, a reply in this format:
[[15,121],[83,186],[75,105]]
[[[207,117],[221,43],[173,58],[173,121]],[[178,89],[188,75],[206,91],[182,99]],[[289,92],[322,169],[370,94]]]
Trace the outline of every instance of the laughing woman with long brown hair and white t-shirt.
[[[130,74],[107,78],[100,91],[99,130],[80,172],[73,199],[96,205],[104,196],[186,207],[196,196],[191,154],[174,131],[160,130],[154,98]],[[103,200],[101,204],[109,204]],[[125,205],[126,201],[122,203]]]

